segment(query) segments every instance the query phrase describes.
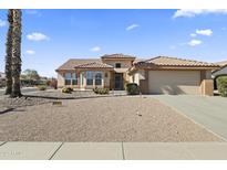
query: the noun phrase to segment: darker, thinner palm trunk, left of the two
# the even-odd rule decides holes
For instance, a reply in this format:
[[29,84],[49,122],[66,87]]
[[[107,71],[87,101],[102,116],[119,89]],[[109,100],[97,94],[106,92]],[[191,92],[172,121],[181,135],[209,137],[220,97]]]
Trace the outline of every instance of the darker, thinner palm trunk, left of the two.
[[12,15],[13,10],[8,11],[8,22],[9,22],[9,29],[7,34],[7,55],[6,55],[6,78],[7,78],[7,88],[6,88],[6,95],[10,95],[12,93],[12,72],[11,72],[11,64],[12,64]]

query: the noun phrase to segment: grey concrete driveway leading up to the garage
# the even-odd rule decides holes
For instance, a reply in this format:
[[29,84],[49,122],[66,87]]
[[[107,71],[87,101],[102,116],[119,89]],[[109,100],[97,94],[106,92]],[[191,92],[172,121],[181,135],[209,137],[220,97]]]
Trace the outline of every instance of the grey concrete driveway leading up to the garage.
[[190,95],[155,95],[152,97],[185,114],[227,140],[227,98]]

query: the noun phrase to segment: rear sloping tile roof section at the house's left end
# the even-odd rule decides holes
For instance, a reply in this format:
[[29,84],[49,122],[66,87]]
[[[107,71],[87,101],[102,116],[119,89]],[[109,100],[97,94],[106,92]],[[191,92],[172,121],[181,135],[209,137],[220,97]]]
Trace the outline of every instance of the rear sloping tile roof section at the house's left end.
[[100,59],[70,59],[62,64],[56,71],[72,71],[76,65],[87,64],[93,62],[101,62]]

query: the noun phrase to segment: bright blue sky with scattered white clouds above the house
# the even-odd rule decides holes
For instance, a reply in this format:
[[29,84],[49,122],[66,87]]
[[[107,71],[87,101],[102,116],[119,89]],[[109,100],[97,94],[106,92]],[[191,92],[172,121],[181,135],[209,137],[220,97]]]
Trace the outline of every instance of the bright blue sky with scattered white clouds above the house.
[[[0,72],[7,10],[0,10]],[[43,76],[71,57],[124,53],[227,60],[227,10],[23,10],[22,70]]]

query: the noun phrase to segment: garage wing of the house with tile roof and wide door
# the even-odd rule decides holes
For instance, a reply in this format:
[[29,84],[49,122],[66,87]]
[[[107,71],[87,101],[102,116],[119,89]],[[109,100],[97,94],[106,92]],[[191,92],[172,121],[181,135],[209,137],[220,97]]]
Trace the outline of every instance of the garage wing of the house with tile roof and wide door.
[[157,56],[137,62],[130,70],[142,94],[214,95],[211,71],[219,65]]

